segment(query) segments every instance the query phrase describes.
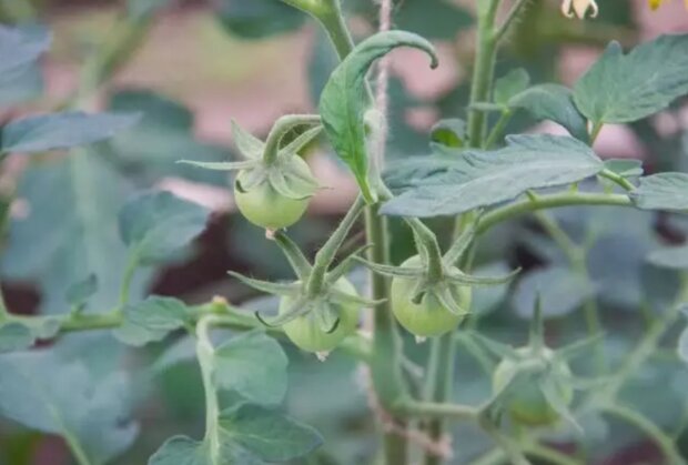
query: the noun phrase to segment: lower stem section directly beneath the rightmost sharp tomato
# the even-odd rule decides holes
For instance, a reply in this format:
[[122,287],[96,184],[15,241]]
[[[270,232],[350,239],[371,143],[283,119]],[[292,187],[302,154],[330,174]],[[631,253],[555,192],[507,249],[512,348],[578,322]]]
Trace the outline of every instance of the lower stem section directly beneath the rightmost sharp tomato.
[[[434,403],[445,403],[452,397],[454,386],[454,363],[455,346],[454,334],[449,332],[433,341],[436,348],[436,356],[433,364],[428,367],[428,380],[432,380],[432,392],[429,398]],[[427,434],[433,442],[442,439],[444,434],[444,418],[434,418],[427,425]],[[443,458],[431,453],[425,455],[425,465],[439,465]]]

